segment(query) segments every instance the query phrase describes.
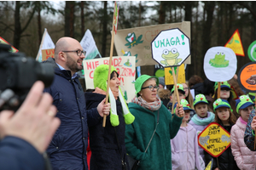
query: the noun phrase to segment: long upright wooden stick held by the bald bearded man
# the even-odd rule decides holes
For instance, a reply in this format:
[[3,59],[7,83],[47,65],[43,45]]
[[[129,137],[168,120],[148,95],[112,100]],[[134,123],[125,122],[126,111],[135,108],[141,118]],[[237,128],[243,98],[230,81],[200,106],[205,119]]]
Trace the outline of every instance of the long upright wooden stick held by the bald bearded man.
[[[109,81],[110,81],[110,74],[111,74],[111,66],[112,66],[112,58],[113,58],[113,39],[114,35],[117,30],[118,25],[118,16],[119,16],[119,3],[114,3],[114,10],[113,10],[113,26],[112,26],[112,38],[111,38],[111,45],[110,45],[110,55],[109,55],[109,67],[108,67],[108,85],[107,85],[107,94],[106,94],[106,101],[105,104],[108,104],[108,94],[109,94]],[[106,118],[107,116],[103,116],[102,127],[106,127]]]

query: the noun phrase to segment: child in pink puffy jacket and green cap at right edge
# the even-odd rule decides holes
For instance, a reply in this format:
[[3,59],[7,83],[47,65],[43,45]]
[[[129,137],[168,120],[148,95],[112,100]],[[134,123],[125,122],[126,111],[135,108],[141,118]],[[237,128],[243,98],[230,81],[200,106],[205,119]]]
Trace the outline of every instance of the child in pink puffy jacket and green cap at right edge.
[[253,101],[247,95],[241,95],[236,99],[236,112],[240,117],[231,128],[230,138],[232,154],[237,167],[241,170],[255,169],[256,164],[256,152],[249,150],[244,143],[244,133],[251,111],[253,111]]

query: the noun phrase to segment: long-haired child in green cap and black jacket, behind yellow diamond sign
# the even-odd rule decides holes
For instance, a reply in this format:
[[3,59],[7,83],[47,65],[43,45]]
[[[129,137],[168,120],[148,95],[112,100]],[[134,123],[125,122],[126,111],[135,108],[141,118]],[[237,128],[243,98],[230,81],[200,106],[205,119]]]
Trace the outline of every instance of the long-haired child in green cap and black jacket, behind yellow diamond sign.
[[[225,99],[216,99],[213,103],[213,111],[215,112],[215,122],[230,133],[231,127],[236,123],[236,117],[232,114],[229,102]],[[212,169],[239,170],[230,147],[218,156],[218,160],[213,157]]]

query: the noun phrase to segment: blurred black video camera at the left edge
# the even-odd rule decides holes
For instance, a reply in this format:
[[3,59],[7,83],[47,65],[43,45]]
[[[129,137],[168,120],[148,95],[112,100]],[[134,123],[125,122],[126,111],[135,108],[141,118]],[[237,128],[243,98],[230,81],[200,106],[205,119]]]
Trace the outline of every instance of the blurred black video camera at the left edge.
[[34,82],[47,88],[54,80],[54,68],[22,53],[10,53],[11,46],[0,43],[0,111],[17,111]]

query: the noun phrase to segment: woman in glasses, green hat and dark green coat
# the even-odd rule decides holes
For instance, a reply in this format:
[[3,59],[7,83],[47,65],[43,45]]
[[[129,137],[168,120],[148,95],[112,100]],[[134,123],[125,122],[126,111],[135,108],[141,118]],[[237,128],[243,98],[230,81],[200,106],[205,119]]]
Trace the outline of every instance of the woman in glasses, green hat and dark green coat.
[[178,115],[183,116],[183,107],[180,105],[177,115],[172,118],[156,95],[159,85],[157,77],[142,75],[134,83],[137,97],[131,100],[128,107],[135,121],[125,127],[127,153],[140,161],[138,170],[172,169],[170,139],[176,136],[182,123],[183,117]]

